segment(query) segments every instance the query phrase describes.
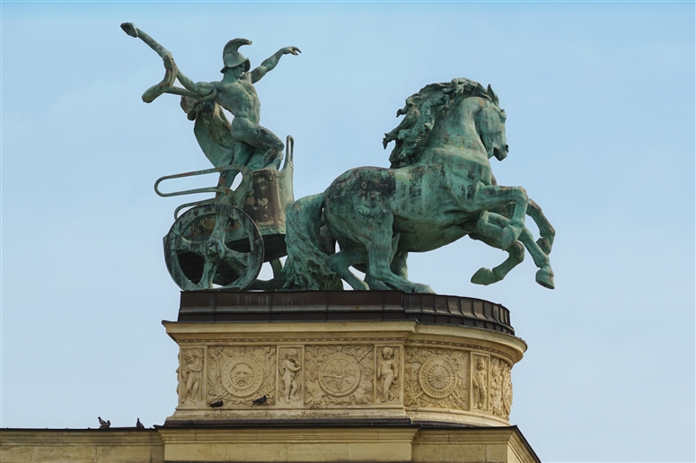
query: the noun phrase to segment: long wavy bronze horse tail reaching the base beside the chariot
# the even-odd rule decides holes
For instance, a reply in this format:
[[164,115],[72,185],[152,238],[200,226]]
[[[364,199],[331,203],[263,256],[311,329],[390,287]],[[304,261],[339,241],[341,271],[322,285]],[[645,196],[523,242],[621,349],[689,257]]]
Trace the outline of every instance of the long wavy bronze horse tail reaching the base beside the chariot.
[[284,290],[340,290],[343,284],[329,266],[322,242],[324,196],[303,197],[287,207]]

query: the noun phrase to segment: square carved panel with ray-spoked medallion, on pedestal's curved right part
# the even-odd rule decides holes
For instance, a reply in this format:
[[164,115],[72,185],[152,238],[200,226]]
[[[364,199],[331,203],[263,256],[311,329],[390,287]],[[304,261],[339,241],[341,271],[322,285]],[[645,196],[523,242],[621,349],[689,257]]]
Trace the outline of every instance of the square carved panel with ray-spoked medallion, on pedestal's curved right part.
[[407,347],[404,405],[468,409],[469,353]]

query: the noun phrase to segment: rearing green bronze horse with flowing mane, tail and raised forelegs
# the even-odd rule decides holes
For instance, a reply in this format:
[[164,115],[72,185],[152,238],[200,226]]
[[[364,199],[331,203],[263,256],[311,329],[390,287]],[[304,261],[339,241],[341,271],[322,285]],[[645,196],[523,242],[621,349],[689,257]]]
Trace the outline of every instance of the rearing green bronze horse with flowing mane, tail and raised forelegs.
[[[508,258],[480,268],[476,284],[491,284],[524,258],[539,267],[536,281],[553,288],[549,263],[555,231],[524,188],[496,184],[489,159],[507,156],[506,115],[490,86],[468,79],[433,83],[406,100],[394,141],[392,169],[348,170],[320,195],[290,205],[286,219],[285,289],[396,289],[432,293],[408,280],[409,252],[436,249],[464,235],[505,249]],[[530,215],[541,238],[524,225]],[[335,252],[335,242],[339,251]],[[365,272],[365,281],[350,271]]]

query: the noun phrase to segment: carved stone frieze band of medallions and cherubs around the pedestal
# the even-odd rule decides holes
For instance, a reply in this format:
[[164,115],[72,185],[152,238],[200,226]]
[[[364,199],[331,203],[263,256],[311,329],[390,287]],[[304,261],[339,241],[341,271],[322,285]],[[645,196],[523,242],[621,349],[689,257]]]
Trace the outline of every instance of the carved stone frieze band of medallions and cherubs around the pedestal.
[[452,330],[442,340],[432,333],[366,336],[357,328],[353,338],[310,334],[242,339],[187,331],[172,422],[410,417],[496,426],[509,419],[507,338],[498,348],[489,338],[457,342]]

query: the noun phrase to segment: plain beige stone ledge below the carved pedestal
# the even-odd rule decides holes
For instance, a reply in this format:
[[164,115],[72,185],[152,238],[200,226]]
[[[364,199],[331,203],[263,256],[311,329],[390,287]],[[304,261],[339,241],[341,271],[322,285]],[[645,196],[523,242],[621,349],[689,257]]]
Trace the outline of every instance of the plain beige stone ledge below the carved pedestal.
[[374,461],[537,463],[516,426],[0,430],[3,463]]

